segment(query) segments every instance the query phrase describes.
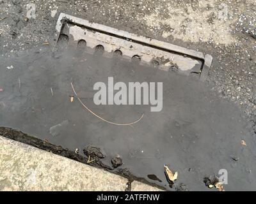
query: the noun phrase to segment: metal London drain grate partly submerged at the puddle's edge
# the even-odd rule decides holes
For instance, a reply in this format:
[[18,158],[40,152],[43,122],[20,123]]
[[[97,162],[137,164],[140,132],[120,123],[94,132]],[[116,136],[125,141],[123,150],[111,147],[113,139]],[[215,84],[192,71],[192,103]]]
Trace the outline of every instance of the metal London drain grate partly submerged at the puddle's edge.
[[65,13],[61,13],[58,18],[56,32],[58,43],[64,40],[69,46],[90,47],[107,57],[122,55],[141,63],[153,64],[165,71],[198,74],[200,80],[207,78],[212,62],[211,55],[94,24]]

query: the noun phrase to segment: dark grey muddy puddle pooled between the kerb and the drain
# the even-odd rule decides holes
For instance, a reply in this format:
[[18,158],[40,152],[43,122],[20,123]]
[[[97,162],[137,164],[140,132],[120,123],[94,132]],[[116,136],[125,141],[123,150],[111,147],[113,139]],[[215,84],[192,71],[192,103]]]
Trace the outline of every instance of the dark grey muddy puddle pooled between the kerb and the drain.
[[[111,157],[118,154],[123,159],[119,168],[167,189],[164,164],[178,171],[175,186],[183,184],[189,190],[210,190],[204,177],[219,176],[221,169],[228,171],[225,190],[256,189],[255,143],[240,110],[219,99],[205,83],[127,60],[67,50],[38,48],[0,60],[0,126],[78,148],[79,154],[87,145],[100,147],[105,164],[111,166]],[[163,82],[163,110],[150,112],[149,105],[95,105],[93,85],[107,83],[108,77],[125,84]],[[76,97],[70,102],[74,96],[70,82],[83,103],[104,119],[126,123],[144,113],[143,119],[132,127],[98,119]]]

